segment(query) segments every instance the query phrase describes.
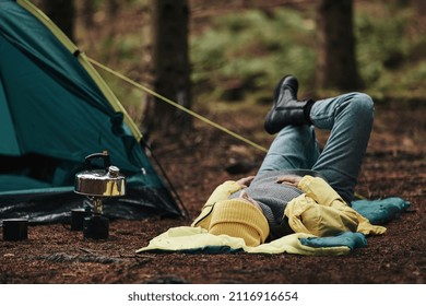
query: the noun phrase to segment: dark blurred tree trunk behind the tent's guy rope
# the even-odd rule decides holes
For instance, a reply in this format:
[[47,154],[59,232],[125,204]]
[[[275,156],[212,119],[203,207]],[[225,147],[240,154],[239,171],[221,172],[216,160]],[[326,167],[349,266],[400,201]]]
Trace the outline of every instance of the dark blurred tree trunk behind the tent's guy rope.
[[[189,4],[187,0],[151,0],[152,46],[150,72],[153,90],[190,108],[191,84],[188,52]],[[146,131],[173,133],[191,127],[191,117],[155,98],[144,114]]]

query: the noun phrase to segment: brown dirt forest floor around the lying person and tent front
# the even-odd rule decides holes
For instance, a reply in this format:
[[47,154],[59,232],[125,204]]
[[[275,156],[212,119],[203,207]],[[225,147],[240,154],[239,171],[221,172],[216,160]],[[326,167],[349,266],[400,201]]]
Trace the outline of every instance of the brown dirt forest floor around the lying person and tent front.
[[[37,225],[28,228],[27,240],[0,240],[0,283],[424,284],[425,110],[419,102],[404,107],[376,104],[375,129],[357,191],[370,199],[402,197],[412,205],[387,225],[384,235],[368,237],[366,247],[347,256],[134,252],[169,227],[189,224],[179,219],[114,221],[107,240],[84,239],[81,232],[70,232],[62,224]],[[264,146],[272,141],[262,130],[259,111],[203,115]],[[153,143],[190,219],[216,185],[253,174],[263,156],[204,123],[194,125],[196,131],[179,142]],[[319,137],[323,141],[327,136]],[[236,161],[244,162],[239,168]]]

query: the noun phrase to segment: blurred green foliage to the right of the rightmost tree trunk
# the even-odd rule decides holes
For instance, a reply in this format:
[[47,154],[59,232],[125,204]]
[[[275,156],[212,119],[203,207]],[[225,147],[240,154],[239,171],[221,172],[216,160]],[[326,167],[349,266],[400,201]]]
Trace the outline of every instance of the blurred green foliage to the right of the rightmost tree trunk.
[[412,10],[368,11],[356,14],[358,66],[368,90],[376,96],[418,95],[425,80],[426,39],[413,31]]

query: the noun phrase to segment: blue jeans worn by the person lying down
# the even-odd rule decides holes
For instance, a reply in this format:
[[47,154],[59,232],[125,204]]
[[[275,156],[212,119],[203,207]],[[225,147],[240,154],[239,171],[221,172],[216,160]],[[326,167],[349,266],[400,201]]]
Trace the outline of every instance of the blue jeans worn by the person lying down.
[[[351,203],[372,128],[372,101],[363,93],[317,101],[310,118],[313,126],[287,126],[277,133],[259,174],[312,169]],[[315,128],[331,131],[322,152]]]

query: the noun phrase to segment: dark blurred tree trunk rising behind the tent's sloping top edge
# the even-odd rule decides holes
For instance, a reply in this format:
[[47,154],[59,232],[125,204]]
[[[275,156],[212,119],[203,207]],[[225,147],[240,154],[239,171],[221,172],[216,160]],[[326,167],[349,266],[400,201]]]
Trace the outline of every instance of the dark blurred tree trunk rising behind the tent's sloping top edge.
[[74,40],[73,0],[42,0],[40,9],[71,40]]

